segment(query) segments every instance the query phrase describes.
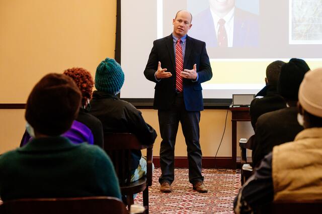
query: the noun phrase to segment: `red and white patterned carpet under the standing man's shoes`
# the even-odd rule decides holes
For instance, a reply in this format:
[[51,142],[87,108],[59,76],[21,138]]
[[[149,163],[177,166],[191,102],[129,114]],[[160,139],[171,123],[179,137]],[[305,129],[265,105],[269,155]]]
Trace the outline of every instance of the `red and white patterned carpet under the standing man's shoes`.
[[[198,193],[192,189],[188,179],[188,169],[175,169],[175,181],[171,193],[159,191],[159,168],[154,169],[153,184],[149,188],[149,213],[233,213],[232,201],[240,188],[238,170],[203,169],[204,183],[208,193]],[[134,203],[142,204],[142,193]]]

